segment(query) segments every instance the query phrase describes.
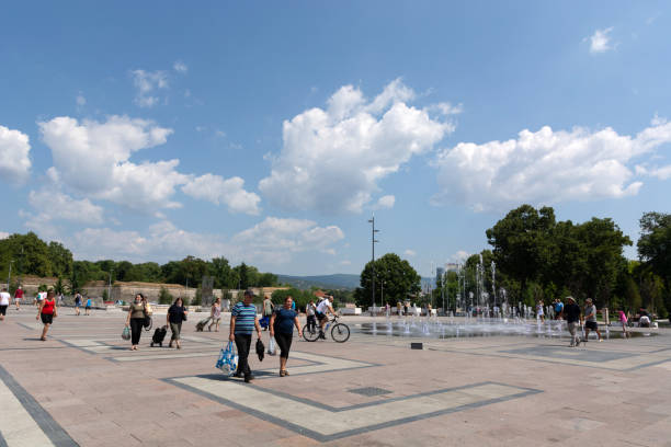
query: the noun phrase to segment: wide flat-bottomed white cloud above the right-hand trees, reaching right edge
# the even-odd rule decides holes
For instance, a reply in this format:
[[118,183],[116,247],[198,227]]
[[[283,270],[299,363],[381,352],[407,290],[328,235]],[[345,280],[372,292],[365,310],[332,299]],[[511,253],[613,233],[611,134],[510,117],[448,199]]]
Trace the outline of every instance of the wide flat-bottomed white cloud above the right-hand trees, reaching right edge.
[[635,195],[642,183],[635,179],[633,160],[670,141],[671,124],[661,124],[635,137],[610,127],[555,131],[545,126],[508,141],[459,142],[437,154],[440,193],[432,202],[486,210]]

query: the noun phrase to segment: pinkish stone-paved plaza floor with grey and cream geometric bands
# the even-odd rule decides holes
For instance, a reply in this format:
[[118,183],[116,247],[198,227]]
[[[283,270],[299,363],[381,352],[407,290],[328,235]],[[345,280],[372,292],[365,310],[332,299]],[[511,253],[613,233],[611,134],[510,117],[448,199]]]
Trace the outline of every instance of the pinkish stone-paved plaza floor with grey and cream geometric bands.
[[254,355],[246,385],[214,368],[228,326],[195,332],[197,314],[182,349],[151,348],[145,332],[130,352],[121,311],[61,309],[46,342],[35,313],[10,308],[0,322],[0,446],[671,446],[668,329],[579,348],[295,337],[289,377],[277,357]]

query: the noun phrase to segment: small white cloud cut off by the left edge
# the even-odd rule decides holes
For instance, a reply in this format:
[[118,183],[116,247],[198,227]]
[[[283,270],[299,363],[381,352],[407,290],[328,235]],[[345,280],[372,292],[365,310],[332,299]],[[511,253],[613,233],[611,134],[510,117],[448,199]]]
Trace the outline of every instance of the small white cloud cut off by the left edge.
[[0,180],[24,183],[31,173],[30,152],[27,135],[0,126]]

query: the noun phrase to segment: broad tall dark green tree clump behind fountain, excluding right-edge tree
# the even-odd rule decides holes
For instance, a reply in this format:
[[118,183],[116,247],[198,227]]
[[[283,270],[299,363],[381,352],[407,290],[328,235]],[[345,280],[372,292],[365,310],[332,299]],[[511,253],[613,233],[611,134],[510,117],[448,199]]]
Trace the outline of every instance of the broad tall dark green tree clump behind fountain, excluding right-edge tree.
[[592,297],[599,307],[610,303],[622,283],[623,248],[632,244],[612,219],[558,222],[553,208],[530,205],[508,213],[487,230],[487,240],[498,267],[497,286],[508,290],[511,301],[532,305],[570,293]]

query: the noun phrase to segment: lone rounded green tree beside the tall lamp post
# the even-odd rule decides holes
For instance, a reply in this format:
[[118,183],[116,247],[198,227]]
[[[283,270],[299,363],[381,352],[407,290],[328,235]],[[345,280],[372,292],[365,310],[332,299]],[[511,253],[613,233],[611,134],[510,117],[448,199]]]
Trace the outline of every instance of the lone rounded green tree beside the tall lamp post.
[[[372,306],[373,295],[373,271],[375,271],[375,302],[380,305],[385,301],[396,302],[405,300],[409,294],[420,291],[421,277],[406,260],[401,260],[398,254],[387,253],[384,256],[368,262],[361,272],[361,287],[354,293],[356,303]],[[384,283],[384,285],[383,285]]]

